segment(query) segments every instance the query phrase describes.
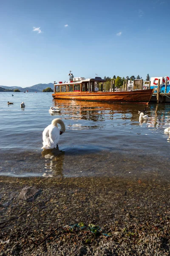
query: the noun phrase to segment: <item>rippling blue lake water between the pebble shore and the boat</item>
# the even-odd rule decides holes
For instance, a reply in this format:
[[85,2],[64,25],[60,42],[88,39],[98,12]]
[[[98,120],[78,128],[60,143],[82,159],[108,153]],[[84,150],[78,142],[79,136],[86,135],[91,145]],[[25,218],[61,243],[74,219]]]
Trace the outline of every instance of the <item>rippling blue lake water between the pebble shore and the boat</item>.
[[[54,100],[51,93],[0,93],[0,175],[170,179],[170,105]],[[14,105],[7,105],[7,102]],[[20,103],[26,108],[21,109]],[[51,106],[61,113],[50,115]],[[61,118],[60,154],[42,151],[42,131]]]

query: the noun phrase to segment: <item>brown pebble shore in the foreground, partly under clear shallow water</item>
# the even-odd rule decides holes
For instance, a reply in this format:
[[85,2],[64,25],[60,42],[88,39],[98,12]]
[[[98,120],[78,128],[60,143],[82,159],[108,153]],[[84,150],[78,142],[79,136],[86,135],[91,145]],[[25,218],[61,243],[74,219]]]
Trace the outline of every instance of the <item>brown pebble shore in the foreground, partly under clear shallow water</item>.
[[[26,185],[41,189],[34,202],[17,198]],[[170,184],[159,177],[0,176],[0,198],[0,239],[10,239],[0,256],[170,254]]]

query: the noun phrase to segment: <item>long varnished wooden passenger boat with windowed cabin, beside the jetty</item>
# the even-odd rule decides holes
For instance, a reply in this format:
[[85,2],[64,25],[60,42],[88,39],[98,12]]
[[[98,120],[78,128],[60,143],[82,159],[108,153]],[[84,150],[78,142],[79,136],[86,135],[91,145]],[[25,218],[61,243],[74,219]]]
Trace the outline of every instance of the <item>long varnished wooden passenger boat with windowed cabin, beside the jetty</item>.
[[[54,82],[54,99],[74,99],[103,102],[130,102],[148,104],[153,94],[150,90],[133,91],[103,91],[104,79],[95,77],[95,79],[85,79],[80,81]],[[102,83],[99,88],[99,83]],[[100,91],[99,91],[100,89]]]

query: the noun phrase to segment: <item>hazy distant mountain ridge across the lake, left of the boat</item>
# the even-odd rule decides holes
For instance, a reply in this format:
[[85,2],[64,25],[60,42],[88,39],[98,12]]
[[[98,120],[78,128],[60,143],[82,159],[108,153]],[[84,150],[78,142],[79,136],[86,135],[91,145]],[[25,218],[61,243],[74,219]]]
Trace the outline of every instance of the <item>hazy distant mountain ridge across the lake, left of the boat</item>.
[[[47,87],[51,87],[51,89],[54,89],[54,84],[53,83],[49,83],[49,84],[35,84],[33,86],[30,87],[19,87],[19,86],[3,86],[0,85],[1,89],[8,89],[8,90],[15,90],[18,89],[21,92],[26,92],[28,90],[28,92],[42,92],[43,89],[46,89]],[[6,90],[2,90],[2,91],[6,91]]]

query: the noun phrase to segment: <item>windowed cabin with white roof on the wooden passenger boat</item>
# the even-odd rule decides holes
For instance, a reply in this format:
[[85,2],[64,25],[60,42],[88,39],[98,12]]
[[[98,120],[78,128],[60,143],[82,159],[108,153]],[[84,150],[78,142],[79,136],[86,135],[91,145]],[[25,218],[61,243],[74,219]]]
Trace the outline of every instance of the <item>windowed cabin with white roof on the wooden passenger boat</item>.
[[[77,81],[77,79],[79,81]],[[54,93],[75,93],[75,92],[98,92],[99,91],[99,83],[101,84],[101,91],[103,91],[103,82],[105,79],[101,77],[89,78],[80,80],[81,78],[74,79],[76,81],[69,82],[58,82],[54,83]]]

